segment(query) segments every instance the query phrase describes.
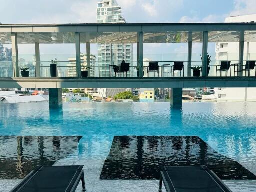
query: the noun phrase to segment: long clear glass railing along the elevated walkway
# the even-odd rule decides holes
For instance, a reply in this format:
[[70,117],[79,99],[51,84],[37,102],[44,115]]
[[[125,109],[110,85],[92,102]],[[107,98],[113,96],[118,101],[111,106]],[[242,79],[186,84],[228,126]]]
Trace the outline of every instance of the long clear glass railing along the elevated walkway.
[[[156,62],[158,66],[149,66],[149,63]],[[183,63],[183,66],[179,66],[177,62]],[[38,70],[36,67],[38,62],[26,61],[18,62],[19,76],[22,77],[21,69],[28,68],[29,77],[39,77],[36,75]],[[41,61],[40,63],[40,77],[77,77],[76,62],[70,61],[58,61],[56,67],[55,76],[51,75],[51,61]],[[89,66],[90,65],[90,66]],[[112,61],[91,61],[81,62],[81,77],[88,78],[136,78],[138,77],[137,70],[138,62],[129,62],[126,67],[121,67],[121,62]],[[246,65],[246,60],[243,61],[242,65],[238,60],[227,61],[214,61],[210,62],[207,68],[208,77],[255,77],[256,67],[255,63],[251,63],[251,66]],[[191,61],[191,67],[201,67],[201,60]],[[89,68],[88,68],[89,67]],[[199,71],[198,71],[199,70]],[[144,61],[143,62],[143,77],[200,77],[202,76],[202,69],[199,68],[194,71],[188,67],[188,61]],[[82,72],[87,71],[87,72]],[[190,76],[189,76],[190,73]],[[0,77],[13,77],[12,62],[0,62]]]

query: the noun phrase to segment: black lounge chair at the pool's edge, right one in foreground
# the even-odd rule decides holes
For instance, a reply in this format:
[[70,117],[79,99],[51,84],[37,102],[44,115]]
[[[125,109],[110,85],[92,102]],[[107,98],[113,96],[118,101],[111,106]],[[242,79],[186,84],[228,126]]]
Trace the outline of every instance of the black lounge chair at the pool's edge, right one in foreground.
[[206,166],[163,166],[159,191],[162,191],[162,181],[167,192],[231,192]]

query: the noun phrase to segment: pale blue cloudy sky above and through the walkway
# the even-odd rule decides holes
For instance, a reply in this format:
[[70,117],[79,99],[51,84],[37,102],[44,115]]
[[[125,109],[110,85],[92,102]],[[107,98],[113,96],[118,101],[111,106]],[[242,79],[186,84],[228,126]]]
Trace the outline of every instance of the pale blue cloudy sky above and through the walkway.
[[[0,0],[0,22],[96,23],[99,0]],[[256,0],[117,0],[127,23],[224,22],[225,17],[256,14]],[[184,50],[185,45],[145,45],[146,54]],[[25,47],[21,53],[32,48]],[[193,50],[200,52],[201,46]],[[49,49],[52,52],[52,49]],[[58,49],[65,51],[66,48]],[[22,52],[23,51],[23,52]],[[47,48],[42,52],[47,53]],[[94,51],[94,52],[93,52]],[[96,53],[92,48],[92,53]]]

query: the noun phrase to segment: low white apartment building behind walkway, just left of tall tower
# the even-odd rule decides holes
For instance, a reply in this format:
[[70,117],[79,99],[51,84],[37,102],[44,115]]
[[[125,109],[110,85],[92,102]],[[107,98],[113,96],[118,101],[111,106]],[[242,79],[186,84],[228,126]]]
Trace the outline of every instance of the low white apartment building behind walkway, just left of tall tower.
[[[67,58],[69,63],[67,64],[67,77],[76,77],[76,58]],[[87,55],[81,53],[81,69],[87,67]],[[95,68],[96,56],[90,55],[90,74],[88,77],[96,77],[96,68]]]

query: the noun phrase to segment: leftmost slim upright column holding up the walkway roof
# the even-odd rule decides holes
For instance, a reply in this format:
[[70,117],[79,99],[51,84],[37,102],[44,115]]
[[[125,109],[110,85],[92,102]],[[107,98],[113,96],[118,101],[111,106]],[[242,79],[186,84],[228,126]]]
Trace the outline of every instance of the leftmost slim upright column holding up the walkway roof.
[[11,33],[13,76],[19,77],[17,33]]

